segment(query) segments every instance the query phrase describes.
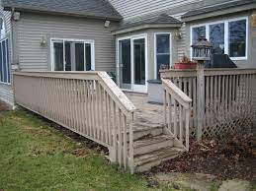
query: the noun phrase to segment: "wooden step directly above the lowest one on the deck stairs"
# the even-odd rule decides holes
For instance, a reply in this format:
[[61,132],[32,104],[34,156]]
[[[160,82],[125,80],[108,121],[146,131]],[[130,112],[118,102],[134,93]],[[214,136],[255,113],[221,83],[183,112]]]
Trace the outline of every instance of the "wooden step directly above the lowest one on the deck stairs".
[[173,147],[173,138],[168,135],[147,136],[134,143],[134,156],[151,153],[162,148]]

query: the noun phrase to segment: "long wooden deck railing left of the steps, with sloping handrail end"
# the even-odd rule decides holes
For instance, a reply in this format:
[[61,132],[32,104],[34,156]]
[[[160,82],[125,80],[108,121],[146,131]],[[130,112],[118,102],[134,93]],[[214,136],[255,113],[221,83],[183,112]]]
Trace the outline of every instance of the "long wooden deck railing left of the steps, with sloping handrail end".
[[106,72],[18,72],[14,91],[17,104],[107,147],[133,172],[135,107]]

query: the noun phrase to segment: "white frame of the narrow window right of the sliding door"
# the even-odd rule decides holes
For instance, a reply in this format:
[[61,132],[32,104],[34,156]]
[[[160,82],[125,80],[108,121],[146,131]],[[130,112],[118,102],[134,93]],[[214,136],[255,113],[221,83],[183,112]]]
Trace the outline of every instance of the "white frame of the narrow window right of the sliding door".
[[[157,79],[157,35],[159,34],[169,34],[169,43],[170,43],[170,52],[169,52],[169,55],[170,55],[170,64],[169,64],[169,67],[171,67],[173,65],[172,63],[172,33],[171,32],[154,32],[154,79]],[[167,53],[165,54],[160,54],[160,55],[167,55]]]

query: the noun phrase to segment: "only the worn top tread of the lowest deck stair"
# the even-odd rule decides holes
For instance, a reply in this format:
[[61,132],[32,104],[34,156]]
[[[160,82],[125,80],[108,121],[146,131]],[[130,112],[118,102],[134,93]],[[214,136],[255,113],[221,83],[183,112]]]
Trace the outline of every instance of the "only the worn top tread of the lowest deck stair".
[[167,147],[163,148],[148,154],[143,154],[140,156],[136,156],[134,158],[135,166],[143,165],[145,163],[149,163],[155,160],[162,160],[166,158],[176,157],[179,154],[183,153],[184,150],[176,147]]

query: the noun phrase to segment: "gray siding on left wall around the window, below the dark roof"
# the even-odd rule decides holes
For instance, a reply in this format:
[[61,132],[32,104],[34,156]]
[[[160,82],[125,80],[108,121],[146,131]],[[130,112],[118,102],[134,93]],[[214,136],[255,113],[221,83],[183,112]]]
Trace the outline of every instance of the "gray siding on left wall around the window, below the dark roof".
[[[21,70],[50,70],[50,38],[95,40],[96,70],[115,70],[115,37],[104,20],[22,13],[16,22],[18,62]],[[43,36],[47,40],[41,46]]]

